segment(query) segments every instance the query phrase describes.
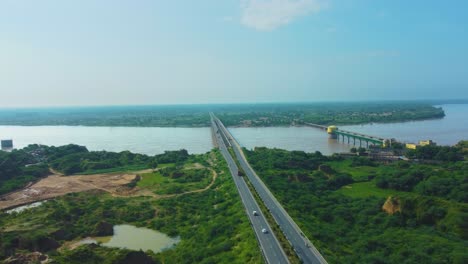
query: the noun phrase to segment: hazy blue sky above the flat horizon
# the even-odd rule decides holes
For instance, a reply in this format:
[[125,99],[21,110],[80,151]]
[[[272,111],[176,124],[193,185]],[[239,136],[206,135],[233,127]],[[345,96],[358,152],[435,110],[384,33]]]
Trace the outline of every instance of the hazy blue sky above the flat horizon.
[[0,0],[0,108],[468,98],[468,1]]

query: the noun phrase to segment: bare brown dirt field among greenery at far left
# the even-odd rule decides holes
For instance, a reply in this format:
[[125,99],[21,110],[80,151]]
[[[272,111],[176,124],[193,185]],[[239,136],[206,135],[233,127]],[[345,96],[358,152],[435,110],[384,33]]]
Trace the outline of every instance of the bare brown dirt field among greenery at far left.
[[92,189],[124,195],[128,191],[124,185],[136,177],[136,174],[50,175],[27,188],[1,196],[0,210]]

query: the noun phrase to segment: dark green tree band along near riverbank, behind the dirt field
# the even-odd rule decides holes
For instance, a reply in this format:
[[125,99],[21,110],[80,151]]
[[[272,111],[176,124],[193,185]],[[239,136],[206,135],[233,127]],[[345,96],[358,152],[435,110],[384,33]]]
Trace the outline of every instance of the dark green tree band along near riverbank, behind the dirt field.
[[154,168],[158,163],[180,163],[188,157],[185,149],[148,156],[129,151],[88,151],[86,147],[73,144],[60,147],[29,145],[12,152],[0,151],[0,194],[50,174],[49,168],[65,175],[91,174]]

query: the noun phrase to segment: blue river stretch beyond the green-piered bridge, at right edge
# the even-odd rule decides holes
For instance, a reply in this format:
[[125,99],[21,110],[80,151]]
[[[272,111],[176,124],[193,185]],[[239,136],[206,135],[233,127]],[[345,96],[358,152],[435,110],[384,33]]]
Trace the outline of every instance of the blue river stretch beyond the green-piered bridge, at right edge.
[[442,119],[390,124],[365,124],[340,126],[340,128],[383,138],[396,138],[402,142],[432,139],[439,145],[454,145],[468,140],[468,104],[441,106],[445,111]]

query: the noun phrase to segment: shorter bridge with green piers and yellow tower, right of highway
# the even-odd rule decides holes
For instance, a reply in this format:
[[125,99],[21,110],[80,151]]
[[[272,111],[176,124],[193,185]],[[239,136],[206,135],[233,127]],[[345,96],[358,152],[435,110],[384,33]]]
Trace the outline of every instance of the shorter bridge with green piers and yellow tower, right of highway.
[[342,130],[336,126],[322,126],[312,123],[305,123],[305,125],[325,130],[330,138],[336,140],[341,139],[342,142],[353,144],[354,146],[357,146],[358,144],[359,147],[365,146],[366,148],[369,148],[370,145],[387,147],[391,142],[391,140],[385,138]]

